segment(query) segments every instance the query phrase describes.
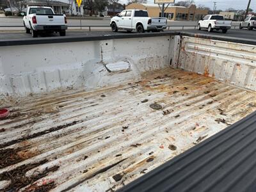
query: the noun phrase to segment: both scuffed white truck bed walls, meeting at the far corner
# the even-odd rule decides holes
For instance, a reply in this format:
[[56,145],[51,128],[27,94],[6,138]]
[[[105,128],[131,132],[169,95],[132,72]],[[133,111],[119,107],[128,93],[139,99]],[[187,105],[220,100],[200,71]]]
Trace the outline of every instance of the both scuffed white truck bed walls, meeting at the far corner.
[[255,45],[179,35],[0,47],[0,93],[24,96],[57,89],[139,81],[159,68],[182,68],[256,90]]

